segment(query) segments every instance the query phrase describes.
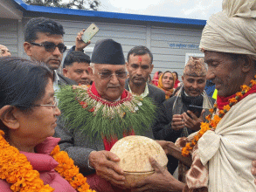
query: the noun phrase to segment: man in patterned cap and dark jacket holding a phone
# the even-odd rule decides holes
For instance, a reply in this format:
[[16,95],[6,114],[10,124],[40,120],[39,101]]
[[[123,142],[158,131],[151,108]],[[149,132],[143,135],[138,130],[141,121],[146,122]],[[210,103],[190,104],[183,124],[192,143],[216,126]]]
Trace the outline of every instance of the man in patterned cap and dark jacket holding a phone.
[[[207,69],[201,58],[190,58],[183,70],[184,86],[176,96],[163,102],[156,123],[153,126],[153,133],[156,140],[176,142],[179,137],[187,137],[196,132],[204,121],[202,113],[191,112],[190,105],[210,109],[214,99],[204,92]],[[207,111],[207,114],[209,112]],[[178,161],[169,157],[168,168],[171,174],[174,173]]]

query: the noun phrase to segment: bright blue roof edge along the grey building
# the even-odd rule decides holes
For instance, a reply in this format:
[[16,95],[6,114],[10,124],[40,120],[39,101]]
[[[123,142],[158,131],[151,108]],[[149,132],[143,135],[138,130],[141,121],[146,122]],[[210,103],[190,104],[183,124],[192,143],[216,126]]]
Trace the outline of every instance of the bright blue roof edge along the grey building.
[[22,0],[13,0],[19,4],[24,10],[42,13],[53,13],[53,14],[64,14],[73,16],[84,16],[84,17],[102,17],[102,18],[117,18],[117,19],[128,19],[134,21],[145,21],[145,22],[160,22],[169,24],[196,24],[205,25],[205,20],[190,19],[190,18],[178,18],[178,17],[158,17],[158,16],[147,16],[147,15],[135,15],[127,13],[114,13],[98,10],[74,10],[56,7],[44,7],[28,5]]

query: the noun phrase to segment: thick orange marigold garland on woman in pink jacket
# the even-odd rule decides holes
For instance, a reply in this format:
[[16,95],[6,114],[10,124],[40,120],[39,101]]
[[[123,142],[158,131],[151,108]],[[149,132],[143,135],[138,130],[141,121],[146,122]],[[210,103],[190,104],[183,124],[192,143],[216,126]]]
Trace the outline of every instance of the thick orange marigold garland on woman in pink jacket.
[[[16,147],[10,146],[3,135],[3,131],[0,130],[0,179],[12,184],[10,189],[15,192],[54,191],[40,179],[38,171],[33,170],[26,156],[20,154]],[[80,192],[95,192],[89,188],[86,177],[79,173],[79,168],[73,164],[68,154],[59,151],[59,146],[54,147],[51,155],[55,161],[59,162],[55,170],[71,184],[73,189]]]

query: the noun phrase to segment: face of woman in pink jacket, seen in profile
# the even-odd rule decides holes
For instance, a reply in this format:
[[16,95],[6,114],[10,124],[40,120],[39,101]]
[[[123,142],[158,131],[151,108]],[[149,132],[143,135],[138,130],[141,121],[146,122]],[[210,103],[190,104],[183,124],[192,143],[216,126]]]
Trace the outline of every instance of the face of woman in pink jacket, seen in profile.
[[[49,79],[45,87],[45,95],[35,105],[53,105],[53,95],[52,80]],[[32,106],[31,112],[19,113],[19,128],[16,130],[16,134],[19,134],[19,137],[27,138],[31,144],[34,142],[41,143],[54,134],[59,115],[60,111],[57,106]]]

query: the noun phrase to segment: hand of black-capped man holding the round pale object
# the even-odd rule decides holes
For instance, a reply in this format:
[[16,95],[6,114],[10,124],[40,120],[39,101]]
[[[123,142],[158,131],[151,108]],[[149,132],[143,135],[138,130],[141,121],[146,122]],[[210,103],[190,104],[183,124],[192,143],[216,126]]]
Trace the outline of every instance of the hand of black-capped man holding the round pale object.
[[124,173],[119,167],[119,157],[109,151],[93,151],[89,156],[90,166],[96,174],[119,188],[124,189]]

